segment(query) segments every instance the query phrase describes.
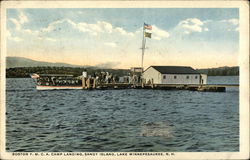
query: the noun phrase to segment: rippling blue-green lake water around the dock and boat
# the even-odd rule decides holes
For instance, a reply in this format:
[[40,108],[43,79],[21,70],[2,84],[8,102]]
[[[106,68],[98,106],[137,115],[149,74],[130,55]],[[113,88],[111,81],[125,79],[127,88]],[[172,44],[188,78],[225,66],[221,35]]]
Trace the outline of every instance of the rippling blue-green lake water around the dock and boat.
[[37,91],[32,79],[14,78],[6,86],[8,152],[239,151],[238,88]]

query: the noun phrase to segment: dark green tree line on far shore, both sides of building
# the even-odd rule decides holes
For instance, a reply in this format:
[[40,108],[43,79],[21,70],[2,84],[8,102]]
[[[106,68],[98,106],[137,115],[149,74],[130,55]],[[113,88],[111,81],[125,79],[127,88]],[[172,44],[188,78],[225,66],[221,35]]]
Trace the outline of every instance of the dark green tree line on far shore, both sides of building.
[[[125,76],[130,73],[129,69],[100,69],[95,67],[15,67],[6,69],[6,78],[29,78],[30,74],[67,74],[80,76],[86,71],[88,75],[94,75],[100,72],[109,72],[116,76]],[[208,76],[237,76],[239,67],[220,67],[209,69],[197,69],[199,73]]]

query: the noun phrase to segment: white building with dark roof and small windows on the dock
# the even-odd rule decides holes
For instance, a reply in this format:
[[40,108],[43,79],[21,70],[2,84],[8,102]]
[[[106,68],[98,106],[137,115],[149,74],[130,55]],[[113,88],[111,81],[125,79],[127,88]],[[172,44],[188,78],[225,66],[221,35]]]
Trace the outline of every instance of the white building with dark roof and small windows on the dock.
[[154,84],[206,84],[207,75],[191,67],[150,66],[143,72],[146,83]]

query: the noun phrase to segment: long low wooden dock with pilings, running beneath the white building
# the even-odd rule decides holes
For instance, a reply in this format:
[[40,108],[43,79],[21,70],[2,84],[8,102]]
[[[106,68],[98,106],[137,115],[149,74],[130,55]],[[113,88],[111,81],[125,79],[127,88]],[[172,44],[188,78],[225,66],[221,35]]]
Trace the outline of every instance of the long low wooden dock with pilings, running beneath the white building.
[[[96,83],[87,79],[82,81],[83,89],[157,89],[157,90],[190,90],[201,92],[225,92],[228,87],[239,87],[238,84],[144,84],[144,83]],[[85,82],[85,83],[84,83]]]

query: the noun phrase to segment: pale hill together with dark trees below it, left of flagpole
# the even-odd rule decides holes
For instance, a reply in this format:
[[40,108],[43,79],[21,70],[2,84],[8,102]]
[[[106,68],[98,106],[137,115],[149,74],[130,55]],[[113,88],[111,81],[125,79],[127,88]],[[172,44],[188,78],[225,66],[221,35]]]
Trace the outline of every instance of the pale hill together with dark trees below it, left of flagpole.
[[89,75],[102,71],[112,73],[114,75],[127,75],[130,70],[112,69],[117,65],[116,62],[107,62],[96,66],[80,66],[67,63],[49,63],[35,61],[23,57],[7,57],[6,58],[6,77],[7,78],[28,78],[31,73],[38,74],[70,74],[79,76],[83,71],[87,71]]

